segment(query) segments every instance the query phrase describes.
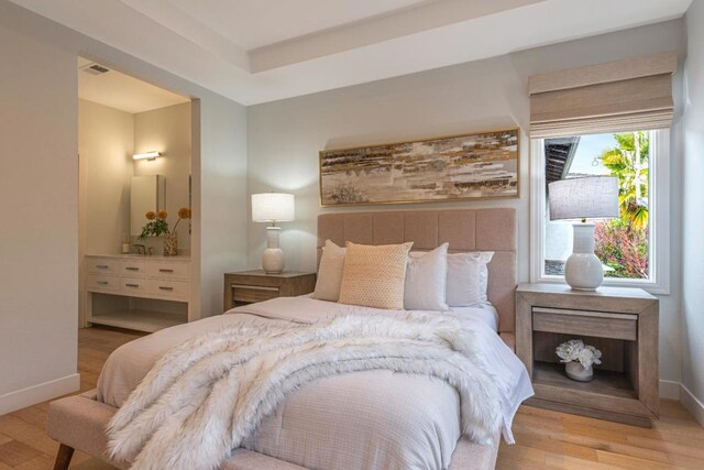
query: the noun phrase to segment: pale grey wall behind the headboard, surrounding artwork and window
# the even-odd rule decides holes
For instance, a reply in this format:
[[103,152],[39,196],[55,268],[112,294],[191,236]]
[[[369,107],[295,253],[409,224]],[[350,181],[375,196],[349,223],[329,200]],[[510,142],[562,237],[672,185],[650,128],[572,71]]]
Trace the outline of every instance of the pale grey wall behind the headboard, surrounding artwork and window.
[[[316,267],[318,152],[364,144],[415,140],[520,125],[528,129],[528,76],[658,52],[684,53],[682,20],[622,31],[508,56],[424,72],[398,78],[315,94],[248,108],[249,192],[296,194],[296,221],[284,223],[283,249],[288,269]],[[675,95],[681,74],[674,78]],[[675,103],[681,110],[681,103]],[[675,128],[678,121],[674,123]],[[673,131],[673,147],[679,134]],[[518,209],[518,275],[529,277],[529,142],[521,135],[520,198],[444,203],[432,207],[510,206]],[[673,153],[672,159],[679,159]],[[676,168],[673,168],[676,174]],[[676,174],[679,176],[679,174]],[[674,176],[673,176],[674,177]],[[673,184],[673,187],[679,186]],[[675,201],[676,204],[676,201]],[[364,206],[360,210],[422,209],[428,205]],[[676,227],[679,215],[672,214]],[[264,225],[250,222],[249,264],[257,267],[264,250]],[[673,239],[675,236],[673,234]],[[674,243],[674,242],[673,242]],[[679,243],[672,250],[673,285],[680,266]],[[680,295],[661,296],[661,376],[680,380]]]

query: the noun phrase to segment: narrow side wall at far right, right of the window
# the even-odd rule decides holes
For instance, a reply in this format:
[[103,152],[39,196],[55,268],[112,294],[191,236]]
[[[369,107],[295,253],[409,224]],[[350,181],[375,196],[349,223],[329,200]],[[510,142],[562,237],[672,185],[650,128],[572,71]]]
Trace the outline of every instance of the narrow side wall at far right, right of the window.
[[[682,396],[704,425],[704,1],[686,12],[682,210]],[[689,396],[688,396],[689,395]],[[698,401],[698,404],[695,402]]]

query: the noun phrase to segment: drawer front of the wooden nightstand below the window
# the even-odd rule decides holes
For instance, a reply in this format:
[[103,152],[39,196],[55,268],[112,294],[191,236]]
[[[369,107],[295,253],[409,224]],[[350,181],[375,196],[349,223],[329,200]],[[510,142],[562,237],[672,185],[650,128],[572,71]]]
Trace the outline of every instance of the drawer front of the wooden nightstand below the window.
[[638,316],[534,307],[532,330],[636,341]]

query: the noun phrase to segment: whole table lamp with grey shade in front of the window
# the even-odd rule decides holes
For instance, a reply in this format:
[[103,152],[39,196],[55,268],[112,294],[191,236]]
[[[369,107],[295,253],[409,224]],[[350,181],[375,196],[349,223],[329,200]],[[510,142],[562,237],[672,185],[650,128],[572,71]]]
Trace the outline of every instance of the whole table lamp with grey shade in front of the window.
[[576,291],[595,291],[604,281],[602,262],[594,254],[594,223],[586,219],[618,217],[618,179],[588,176],[552,182],[550,220],[581,220],[573,225],[572,254],[564,265],[564,280]]

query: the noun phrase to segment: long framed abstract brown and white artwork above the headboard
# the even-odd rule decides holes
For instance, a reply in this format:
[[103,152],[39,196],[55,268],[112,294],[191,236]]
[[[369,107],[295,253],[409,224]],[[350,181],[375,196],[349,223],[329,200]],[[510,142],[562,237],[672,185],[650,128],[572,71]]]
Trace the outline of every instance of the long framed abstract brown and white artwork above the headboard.
[[320,204],[518,197],[519,131],[320,152]]

